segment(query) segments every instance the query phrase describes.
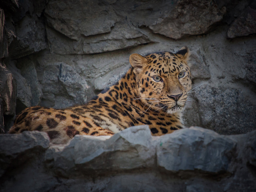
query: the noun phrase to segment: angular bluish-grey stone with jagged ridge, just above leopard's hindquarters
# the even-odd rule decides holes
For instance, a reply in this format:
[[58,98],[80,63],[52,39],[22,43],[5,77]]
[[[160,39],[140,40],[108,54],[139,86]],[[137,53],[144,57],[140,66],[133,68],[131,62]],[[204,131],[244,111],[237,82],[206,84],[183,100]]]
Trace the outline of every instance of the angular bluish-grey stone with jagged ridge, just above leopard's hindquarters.
[[89,86],[73,67],[65,62],[49,63],[41,59],[38,62],[41,66],[37,66],[37,70],[41,73],[37,78],[44,94],[41,105],[64,108],[87,101]]

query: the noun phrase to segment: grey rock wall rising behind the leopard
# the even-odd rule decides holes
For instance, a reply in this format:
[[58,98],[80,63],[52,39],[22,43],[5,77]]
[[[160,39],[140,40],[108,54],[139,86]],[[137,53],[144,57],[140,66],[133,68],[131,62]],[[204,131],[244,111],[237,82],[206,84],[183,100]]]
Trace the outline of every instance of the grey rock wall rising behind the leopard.
[[27,106],[87,102],[122,77],[132,53],[183,45],[192,52],[196,100],[186,125],[221,134],[255,129],[255,1],[0,3],[2,133]]

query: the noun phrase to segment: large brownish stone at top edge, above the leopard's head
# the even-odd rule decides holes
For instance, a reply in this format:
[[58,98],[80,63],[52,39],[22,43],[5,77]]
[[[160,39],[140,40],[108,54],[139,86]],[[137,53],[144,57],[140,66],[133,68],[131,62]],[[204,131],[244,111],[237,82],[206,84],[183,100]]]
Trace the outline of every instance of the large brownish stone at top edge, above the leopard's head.
[[179,0],[174,9],[149,28],[170,38],[180,39],[186,35],[204,34],[222,20],[225,7],[219,9],[213,1]]

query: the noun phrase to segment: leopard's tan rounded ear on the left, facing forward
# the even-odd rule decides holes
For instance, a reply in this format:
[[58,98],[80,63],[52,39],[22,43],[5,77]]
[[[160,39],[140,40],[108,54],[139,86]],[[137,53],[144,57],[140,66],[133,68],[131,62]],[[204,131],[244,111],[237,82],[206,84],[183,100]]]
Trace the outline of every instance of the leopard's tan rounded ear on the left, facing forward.
[[137,53],[133,53],[132,55],[130,55],[129,61],[134,68],[133,72],[135,74],[140,73],[142,68],[148,63],[147,58]]

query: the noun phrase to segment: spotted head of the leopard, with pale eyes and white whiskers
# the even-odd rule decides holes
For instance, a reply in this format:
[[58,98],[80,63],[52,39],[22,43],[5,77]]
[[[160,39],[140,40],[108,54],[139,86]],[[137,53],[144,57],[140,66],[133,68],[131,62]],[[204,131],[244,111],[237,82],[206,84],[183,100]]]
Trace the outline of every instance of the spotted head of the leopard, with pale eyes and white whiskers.
[[136,76],[138,99],[155,111],[172,114],[184,110],[192,84],[189,55],[187,47],[175,54],[132,54],[130,63]]

